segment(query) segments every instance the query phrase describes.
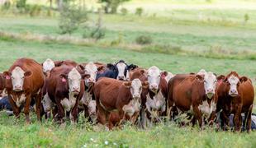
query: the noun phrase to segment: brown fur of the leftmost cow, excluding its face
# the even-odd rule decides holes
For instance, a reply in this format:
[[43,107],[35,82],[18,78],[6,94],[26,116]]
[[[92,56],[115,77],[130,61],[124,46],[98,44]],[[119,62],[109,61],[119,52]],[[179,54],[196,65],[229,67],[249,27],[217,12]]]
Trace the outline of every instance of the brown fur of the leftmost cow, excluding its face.
[[[29,111],[30,111],[30,104],[31,104],[31,98],[36,99],[36,114],[37,119],[40,120],[40,102],[42,94],[37,92],[40,90],[40,88],[44,84],[44,73],[42,70],[42,67],[40,63],[36,62],[35,60],[32,60],[30,58],[20,58],[17,59],[16,62],[12,64],[12,67],[10,67],[8,72],[9,76],[12,73],[12,70],[15,67],[21,67],[21,69],[25,72],[30,71],[31,76],[25,76],[24,84],[23,84],[23,91],[16,92],[12,90],[12,79],[6,80],[6,88],[7,88],[7,94],[9,96],[10,104],[12,105],[13,113],[16,115],[16,117],[19,117],[19,114],[21,113],[21,109],[17,107],[17,104],[15,103],[17,101],[17,96],[21,96],[22,93],[26,94],[26,103],[24,105],[24,113],[26,115],[26,122],[30,123],[29,118]],[[12,98],[13,96],[14,98]]]

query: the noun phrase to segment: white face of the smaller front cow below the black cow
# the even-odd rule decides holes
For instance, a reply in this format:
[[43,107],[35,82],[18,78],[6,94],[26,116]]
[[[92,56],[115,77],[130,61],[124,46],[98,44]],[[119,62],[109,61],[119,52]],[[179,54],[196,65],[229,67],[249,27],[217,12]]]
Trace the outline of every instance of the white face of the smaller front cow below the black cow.
[[139,79],[135,79],[131,81],[130,85],[130,93],[132,95],[132,98],[139,99],[142,92],[142,84]]

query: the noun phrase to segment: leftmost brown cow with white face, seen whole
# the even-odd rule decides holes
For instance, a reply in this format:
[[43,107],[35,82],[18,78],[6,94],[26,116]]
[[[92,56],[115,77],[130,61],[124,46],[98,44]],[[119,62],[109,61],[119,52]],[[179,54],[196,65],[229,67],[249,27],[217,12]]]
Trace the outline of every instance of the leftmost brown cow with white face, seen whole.
[[31,99],[36,101],[36,115],[40,118],[41,91],[44,85],[44,73],[40,63],[30,58],[20,58],[12,64],[9,71],[3,72],[6,89],[13,113],[19,118],[21,105],[24,105],[26,123],[30,123],[29,111]]

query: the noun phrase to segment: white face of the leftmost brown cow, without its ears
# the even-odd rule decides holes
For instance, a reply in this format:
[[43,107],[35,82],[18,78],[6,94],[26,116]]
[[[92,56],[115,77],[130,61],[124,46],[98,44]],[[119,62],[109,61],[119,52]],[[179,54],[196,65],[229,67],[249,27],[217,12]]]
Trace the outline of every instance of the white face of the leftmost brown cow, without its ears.
[[21,67],[15,67],[12,70],[12,89],[14,91],[23,90],[23,84],[25,79],[25,72],[21,69]]

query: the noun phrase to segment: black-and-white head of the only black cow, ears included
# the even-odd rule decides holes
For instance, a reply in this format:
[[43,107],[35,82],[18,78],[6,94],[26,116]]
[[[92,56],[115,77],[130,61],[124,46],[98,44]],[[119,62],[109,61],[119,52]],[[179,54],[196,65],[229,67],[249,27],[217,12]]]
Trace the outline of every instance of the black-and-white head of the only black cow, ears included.
[[127,78],[129,78],[129,76],[127,76],[126,73],[132,69],[135,69],[135,67],[137,66],[134,64],[127,65],[125,61],[120,60],[119,62],[116,62],[115,65],[107,64],[107,67],[110,70],[117,72],[117,76],[116,76],[117,80],[126,81]]

